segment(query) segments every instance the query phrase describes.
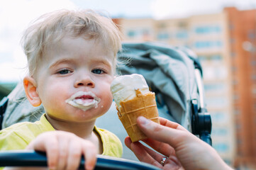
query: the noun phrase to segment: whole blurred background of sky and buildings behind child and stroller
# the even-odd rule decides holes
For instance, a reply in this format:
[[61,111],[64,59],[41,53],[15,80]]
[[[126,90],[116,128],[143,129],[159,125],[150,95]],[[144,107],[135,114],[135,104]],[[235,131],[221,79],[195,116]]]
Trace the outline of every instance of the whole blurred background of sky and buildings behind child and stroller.
[[124,41],[163,42],[196,52],[213,147],[235,169],[256,169],[255,0],[1,0],[0,100],[26,74],[23,30],[60,8],[105,10]]

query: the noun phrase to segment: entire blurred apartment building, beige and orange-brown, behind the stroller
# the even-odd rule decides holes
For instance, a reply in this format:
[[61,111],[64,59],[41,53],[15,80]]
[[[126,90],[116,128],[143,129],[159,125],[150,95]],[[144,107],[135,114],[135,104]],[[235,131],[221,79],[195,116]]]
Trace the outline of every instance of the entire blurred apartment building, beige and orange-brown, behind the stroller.
[[118,19],[125,41],[164,42],[196,52],[204,70],[213,147],[237,167],[256,162],[255,13],[226,8],[187,18]]

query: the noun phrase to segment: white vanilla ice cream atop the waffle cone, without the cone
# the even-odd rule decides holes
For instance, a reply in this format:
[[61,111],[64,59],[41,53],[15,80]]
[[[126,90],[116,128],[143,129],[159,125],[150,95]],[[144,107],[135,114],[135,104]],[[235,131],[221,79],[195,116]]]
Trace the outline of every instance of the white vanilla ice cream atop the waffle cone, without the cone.
[[130,74],[118,76],[111,83],[111,93],[118,108],[121,108],[120,102],[135,98],[136,90],[141,94],[149,93],[148,84],[143,75]]

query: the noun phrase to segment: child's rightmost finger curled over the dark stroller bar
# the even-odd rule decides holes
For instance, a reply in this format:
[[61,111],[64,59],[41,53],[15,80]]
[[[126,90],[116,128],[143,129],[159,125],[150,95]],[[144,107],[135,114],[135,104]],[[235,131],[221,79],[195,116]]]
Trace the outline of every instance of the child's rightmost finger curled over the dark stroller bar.
[[96,147],[91,142],[84,141],[82,142],[82,151],[84,153],[84,159],[85,159],[84,168],[87,170],[94,169],[94,166],[96,164],[96,154],[97,154]]

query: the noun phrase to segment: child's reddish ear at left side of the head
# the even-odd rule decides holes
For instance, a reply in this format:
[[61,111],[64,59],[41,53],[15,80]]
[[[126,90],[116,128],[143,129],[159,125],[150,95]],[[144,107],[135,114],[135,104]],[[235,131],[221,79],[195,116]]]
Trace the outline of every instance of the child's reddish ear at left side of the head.
[[32,77],[24,77],[23,86],[28,101],[32,104],[32,106],[40,106],[42,102],[40,97],[38,96],[38,92],[36,91],[35,79],[33,79]]

